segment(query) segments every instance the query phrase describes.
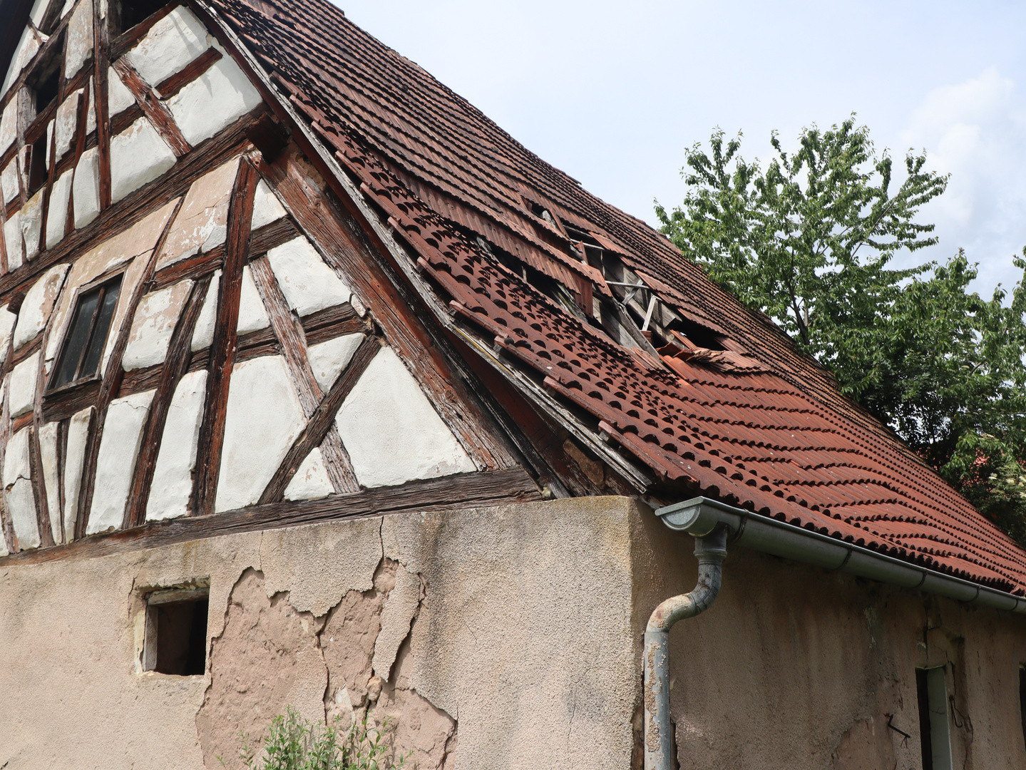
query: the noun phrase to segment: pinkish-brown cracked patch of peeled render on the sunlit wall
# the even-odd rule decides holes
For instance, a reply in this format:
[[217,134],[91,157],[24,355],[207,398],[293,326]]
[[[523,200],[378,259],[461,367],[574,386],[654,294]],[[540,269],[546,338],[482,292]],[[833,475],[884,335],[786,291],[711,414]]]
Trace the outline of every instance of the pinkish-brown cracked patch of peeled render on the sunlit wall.
[[371,570],[369,589],[346,592],[321,615],[298,610],[262,572],[242,573],[224,629],[210,642],[210,684],[196,717],[208,767],[224,758],[227,767],[241,770],[240,731],[259,744],[289,705],[321,724],[367,714],[380,725],[388,718],[393,759],[409,754],[407,766],[418,770],[452,767],[457,723],[411,688],[402,675],[404,655],[393,679],[371,665],[403,646],[424,597],[422,578],[385,558]]

